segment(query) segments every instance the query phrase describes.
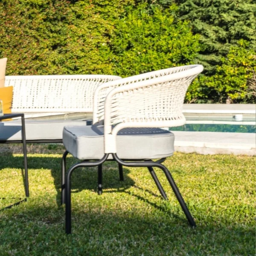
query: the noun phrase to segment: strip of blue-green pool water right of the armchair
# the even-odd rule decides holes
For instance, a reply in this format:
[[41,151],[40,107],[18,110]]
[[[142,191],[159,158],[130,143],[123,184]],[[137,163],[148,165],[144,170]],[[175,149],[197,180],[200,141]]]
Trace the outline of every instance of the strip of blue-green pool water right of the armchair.
[[256,125],[186,124],[169,128],[170,131],[217,131],[256,133]]

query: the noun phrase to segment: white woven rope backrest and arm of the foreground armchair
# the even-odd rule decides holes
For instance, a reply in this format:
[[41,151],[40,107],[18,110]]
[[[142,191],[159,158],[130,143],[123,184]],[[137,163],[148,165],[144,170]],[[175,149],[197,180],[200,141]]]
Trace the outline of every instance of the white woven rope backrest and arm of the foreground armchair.
[[[204,68],[202,65],[179,68],[169,69],[168,74],[159,70],[163,75],[147,80],[137,76],[135,82],[125,85],[124,79],[114,81],[122,86],[116,86],[105,99],[105,153],[116,153],[116,134],[122,128],[173,127],[186,122],[182,113],[186,90]],[[143,74],[143,77],[149,76]]]

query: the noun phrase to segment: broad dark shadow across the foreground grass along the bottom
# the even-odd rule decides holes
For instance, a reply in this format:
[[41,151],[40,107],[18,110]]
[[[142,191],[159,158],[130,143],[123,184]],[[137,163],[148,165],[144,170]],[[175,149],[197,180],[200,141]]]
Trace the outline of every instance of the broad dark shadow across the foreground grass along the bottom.
[[[254,227],[232,221],[221,224],[208,218],[192,229],[186,221],[169,214],[146,215],[134,211],[131,215],[128,210],[102,212],[76,206],[72,219],[73,233],[66,236],[64,209],[37,204],[13,209],[12,214],[1,216],[2,249],[15,245],[20,253],[29,245],[33,255],[42,255],[42,251],[44,255],[249,256],[255,253]],[[15,229],[20,231],[15,233]],[[68,253],[73,250],[76,253]]]

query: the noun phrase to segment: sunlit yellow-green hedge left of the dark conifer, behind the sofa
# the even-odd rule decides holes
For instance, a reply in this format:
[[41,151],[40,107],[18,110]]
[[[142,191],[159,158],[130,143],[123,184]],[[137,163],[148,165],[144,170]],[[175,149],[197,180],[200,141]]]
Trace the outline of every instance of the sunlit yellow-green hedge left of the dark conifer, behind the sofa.
[[174,24],[157,8],[149,15],[145,5],[133,11],[131,1],[6,0],[0,7],[8,75],[131,76],[189,64],[199,49],[188,22]]

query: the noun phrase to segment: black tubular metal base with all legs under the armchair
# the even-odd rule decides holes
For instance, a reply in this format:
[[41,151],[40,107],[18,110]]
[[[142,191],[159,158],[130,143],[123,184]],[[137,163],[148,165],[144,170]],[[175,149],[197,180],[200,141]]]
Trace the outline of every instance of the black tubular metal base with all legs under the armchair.
[[[94,162],[89,162],[90,160],[84,160],[80,163],[75,163],[73,164],[73,166],[70,167],[70,169],[68,169],[66,173],[66,157],[68,153],[69,153],[68,151],[64,152],[62,157],[62,163],[61,163],[61,204],[66,205],[66,223],[65,223],[66,233],[70,234],[71,233],[71,174],[76,168],[79,168],[79,167],[98,166],[98,194],[101,195],[102,194],[102,164],[108,159],[109,154],[104,154],[102,159],[95,160]],[[163,196],[164,199],[167,199],[166,193],[162,185],[160,184],[160,181],[158,180],[157,175],[155,174],[153,169],[153,167],[160,168],[165,173],[166,178],[169,181],[172,187],[172,190],[175,193],[177,200],[179,201],[180,206],[186,215],[187,220],[189,221],[189,224],[192,227],[196,227],[195,221],[192,215],[190,214],[189,209],[187,208],[186,203],[184,202],[182,196],[180,195],[180,191],[177,188],[177,185],[173,180],[172,175],[170,174],[166,166],[161,164],[164,162],[166,158],[162,158],[157,161],[129,159],[128,160],[129,162],[127,162],[126,160],[121,160],[116,153],[113,153],[112,157],[113,157],[113,160],[115,160],[118,163],[120,180],[124,180],[122,166],[147,167],[161,195]]]

